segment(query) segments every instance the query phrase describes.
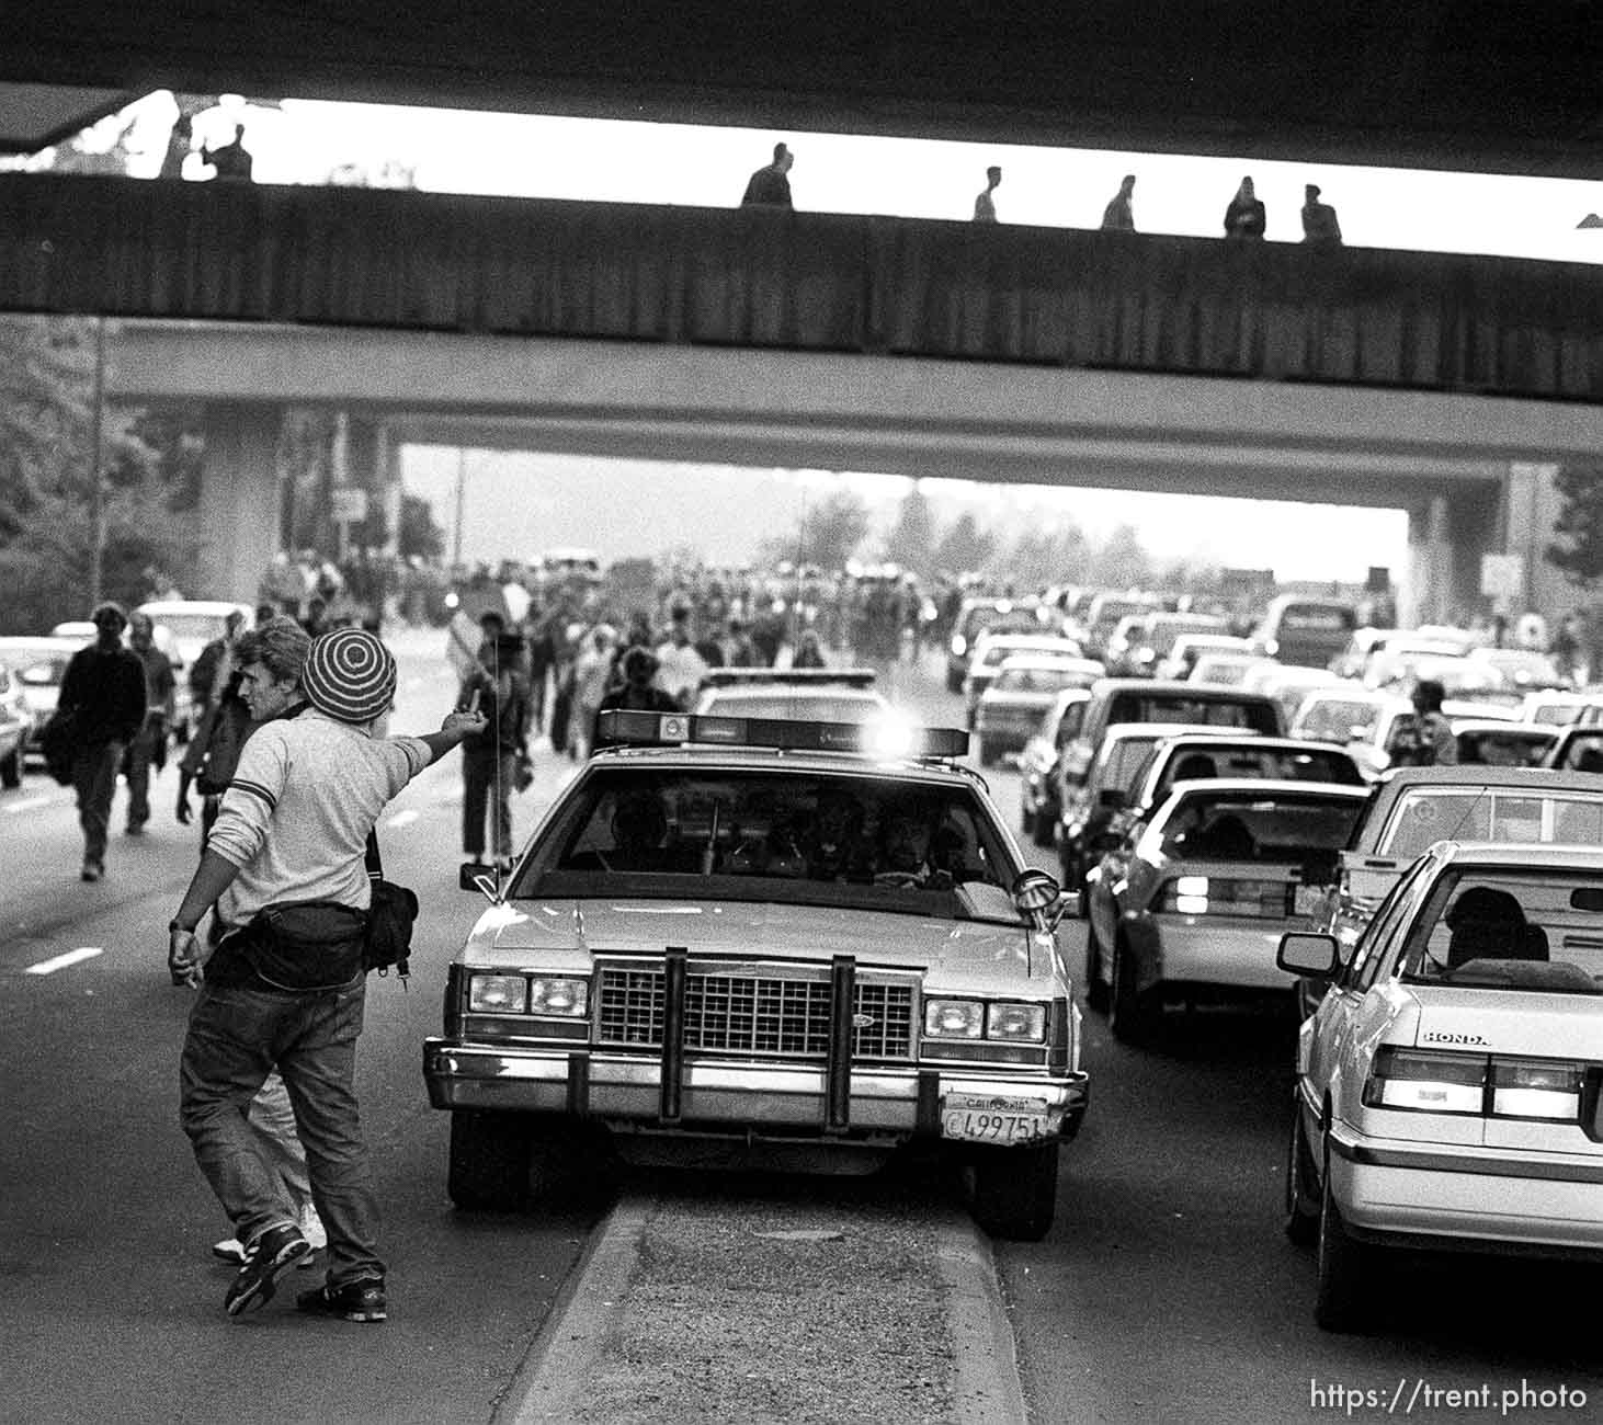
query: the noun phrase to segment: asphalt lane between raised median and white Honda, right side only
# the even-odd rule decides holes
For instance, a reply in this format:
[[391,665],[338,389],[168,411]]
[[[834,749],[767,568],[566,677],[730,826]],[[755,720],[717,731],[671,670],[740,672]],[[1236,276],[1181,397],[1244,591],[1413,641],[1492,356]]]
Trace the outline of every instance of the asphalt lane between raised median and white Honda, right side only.
[[[907,680],[922,715],[960,726],[960,699],[922,672]],[[986,779],[1016,835],[1016,769]],[[1024,850],[1058,874],[1055,851]],[[1066,952],[1080,975],[1082,923],[1066,926]],[[1063,1156],[1056,1223],[1044,1242],[997,1244],[1037,1419],[1347,1417],[1330,1387],[1379,1395],[1358,1419],[1387,1414],[1399,1382],[1399,1412],[1414,1396],[1425,1414],[1431,1387],[1489,1391],[1486,1411],[1438,1406],[1430,1419],[1488,1419],[1505,1390],[1524,1419],[1542,1390],[1603,1401],[1595,1313],[1571,1305],[1595,1298],[1598,1268],[1399,1255],[1372,1334],[1314,1327],[1313,1253],[1281,1234],[1289,1018],[1172,1013],[1157,1047],[1132,1050],[1082,1013],[1092,1106]]]

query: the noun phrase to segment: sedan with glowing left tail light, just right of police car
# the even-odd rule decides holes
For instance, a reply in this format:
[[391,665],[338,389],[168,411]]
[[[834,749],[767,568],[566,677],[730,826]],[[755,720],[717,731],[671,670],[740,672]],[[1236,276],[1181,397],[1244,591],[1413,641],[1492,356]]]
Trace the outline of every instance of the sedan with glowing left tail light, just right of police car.
[[1169,999],[1294,1003],[1281,933],[1313,926],[1367,792],[1324,782],[1180,782],[1088,883],[1085,986],[1116,1039],[1143,1042]]

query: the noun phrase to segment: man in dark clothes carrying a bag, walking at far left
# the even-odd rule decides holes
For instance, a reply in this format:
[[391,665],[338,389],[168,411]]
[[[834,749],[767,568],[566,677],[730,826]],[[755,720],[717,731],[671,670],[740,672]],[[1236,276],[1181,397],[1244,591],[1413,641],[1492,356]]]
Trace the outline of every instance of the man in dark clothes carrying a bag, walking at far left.
[[144,728],[144,664],[122,646],[128,616],[98,604],[95,643],[72,654],[61,680],[56,721],[72,745],[72,789],[83,829],[83,880],[106,874],[106,832],[122,753]]

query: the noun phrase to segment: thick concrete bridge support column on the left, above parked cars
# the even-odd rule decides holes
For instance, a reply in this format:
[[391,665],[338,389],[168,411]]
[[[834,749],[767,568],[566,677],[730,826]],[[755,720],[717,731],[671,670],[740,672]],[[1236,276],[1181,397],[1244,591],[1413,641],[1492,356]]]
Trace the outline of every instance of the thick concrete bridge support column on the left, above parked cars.
[[256,601],[261,575],[279,551],[281,417],[268,404],[207,406],[196,598]]

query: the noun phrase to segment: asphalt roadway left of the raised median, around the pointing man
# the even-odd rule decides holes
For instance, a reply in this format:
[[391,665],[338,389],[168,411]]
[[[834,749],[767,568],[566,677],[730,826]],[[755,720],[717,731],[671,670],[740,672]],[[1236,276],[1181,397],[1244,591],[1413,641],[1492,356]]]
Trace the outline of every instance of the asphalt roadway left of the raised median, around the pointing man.
[[[434,728],[450,705],[439,646],[401,641],[398,731]],[[519,835],[571,773],[539,763]],[[172,817],[175,769],[146,837],[114,822],[96,885],[77,878],[71,792],[30,773],[0,793],[0,1419],[489,1417],[595,1213],[466,1218],[446,1197],[447,1122],[428,1108],[420,1042],[483,906],[455,888],[460,790],[455,760],[431,768],[380,832],[386,872],[425,901],[410,989],[370,981],[357,1068],[391,1262],[382,1329],[298,1318],[287,1300],[223,1316],[229,1270],[208,1247],[226,1221],[176,1120],[189,994],[168,983],[165,925],[197,832]],[[99,954],[29,973],[82,949]],[[281,1297],[316,1279],[293,1273]]]

